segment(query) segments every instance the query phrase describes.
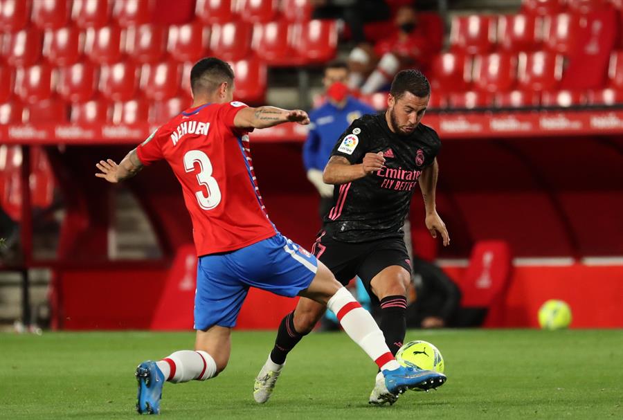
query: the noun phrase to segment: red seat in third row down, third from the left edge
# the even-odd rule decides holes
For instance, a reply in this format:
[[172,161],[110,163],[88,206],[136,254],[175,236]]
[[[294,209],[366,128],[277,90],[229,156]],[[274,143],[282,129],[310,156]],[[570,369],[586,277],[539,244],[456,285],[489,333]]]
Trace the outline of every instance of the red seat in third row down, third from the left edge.
[[93,98],[98,80],[96,70],[90,62],[62,67],[58,71],[57,91],[61,98],[69,102],[86,102]]

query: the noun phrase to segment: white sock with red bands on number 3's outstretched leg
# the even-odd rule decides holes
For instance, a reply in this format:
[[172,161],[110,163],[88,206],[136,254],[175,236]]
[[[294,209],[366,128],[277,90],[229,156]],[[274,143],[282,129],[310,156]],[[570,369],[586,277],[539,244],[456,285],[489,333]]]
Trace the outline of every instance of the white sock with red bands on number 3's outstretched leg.
[[379,369],[393,370],[399,367],[374,318],[349,291],[344,287],[339,289],[327,302],[327,308],[335,313],[346,334],[374,360]]

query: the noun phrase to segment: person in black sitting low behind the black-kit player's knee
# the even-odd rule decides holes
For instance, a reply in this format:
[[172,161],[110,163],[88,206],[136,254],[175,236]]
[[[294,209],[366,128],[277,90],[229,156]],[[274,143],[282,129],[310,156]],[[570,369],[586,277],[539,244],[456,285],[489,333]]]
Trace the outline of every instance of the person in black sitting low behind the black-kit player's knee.
[[411,260],[415,289],[410,291],[411,304],[406,310],[410,328],[443,328],[453,326],[461,292],[444,271],[418,257]]

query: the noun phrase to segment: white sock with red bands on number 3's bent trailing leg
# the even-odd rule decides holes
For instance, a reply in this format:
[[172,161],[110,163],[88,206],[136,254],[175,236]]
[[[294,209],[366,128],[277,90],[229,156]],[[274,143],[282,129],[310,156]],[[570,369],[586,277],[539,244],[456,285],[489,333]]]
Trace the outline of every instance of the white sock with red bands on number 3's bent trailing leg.
[[205,351],[180,350],[156,362],[166,381],[205,381],[216,374],[216,363]]

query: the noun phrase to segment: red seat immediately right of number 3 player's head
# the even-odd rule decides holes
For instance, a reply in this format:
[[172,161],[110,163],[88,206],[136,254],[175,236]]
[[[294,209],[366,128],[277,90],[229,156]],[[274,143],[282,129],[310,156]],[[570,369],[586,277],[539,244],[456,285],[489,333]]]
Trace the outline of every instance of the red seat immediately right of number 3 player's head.
[[231,63],[236,76],[234,98],[242,102],[264,102],[267,86],[266,65],[257,57]]

